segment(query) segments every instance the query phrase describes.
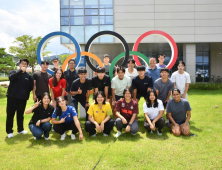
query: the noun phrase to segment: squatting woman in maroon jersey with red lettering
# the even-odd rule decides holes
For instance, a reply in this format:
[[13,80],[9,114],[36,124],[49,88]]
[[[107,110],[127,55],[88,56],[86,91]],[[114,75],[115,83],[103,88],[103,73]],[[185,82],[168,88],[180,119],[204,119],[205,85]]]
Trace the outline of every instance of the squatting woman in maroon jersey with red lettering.
[[138,132],[138,121],[136,119],[138,111],[138,103],[132,99],[132,92],[129,88],[124,89],[122,99],[116,103],[115,111],[116,116],[116,128],[118,132],[115,137],[122,135],[122,128],[126,128],[126,132],[131,132],[132,135],[136,135]]

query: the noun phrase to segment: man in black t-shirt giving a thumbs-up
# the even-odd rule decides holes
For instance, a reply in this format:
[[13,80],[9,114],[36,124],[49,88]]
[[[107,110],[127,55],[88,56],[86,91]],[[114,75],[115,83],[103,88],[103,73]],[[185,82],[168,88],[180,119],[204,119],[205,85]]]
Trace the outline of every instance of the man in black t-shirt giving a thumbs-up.
[[89,96],[92,89],[92,79],[86,78],[87,70],[81,68],[78,70],[79,78],[76,79],[71,86],[70,94],[72,96],[71,106],[74,106],[78,112],[78,102],[85,107],[86,121],[88,120],[87,111],[89,109]]

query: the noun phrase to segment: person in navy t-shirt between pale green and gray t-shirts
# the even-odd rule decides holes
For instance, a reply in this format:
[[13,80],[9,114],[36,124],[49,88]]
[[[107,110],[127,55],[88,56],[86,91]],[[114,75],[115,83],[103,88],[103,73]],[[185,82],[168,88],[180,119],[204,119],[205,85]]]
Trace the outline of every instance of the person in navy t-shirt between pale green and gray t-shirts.
[[153,88],[153,79],[146,76],[146,68],[141,65],[137,67],[138,76],[133,78],[132,89],[134,100],[138,103],[141,97],[147,98],[147,92]]

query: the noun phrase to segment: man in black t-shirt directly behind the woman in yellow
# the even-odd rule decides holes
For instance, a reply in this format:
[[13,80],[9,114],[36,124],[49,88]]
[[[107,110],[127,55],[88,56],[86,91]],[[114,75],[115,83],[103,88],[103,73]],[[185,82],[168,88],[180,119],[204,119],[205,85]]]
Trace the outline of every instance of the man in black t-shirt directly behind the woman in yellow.
[[[97,67],[97,75],[92,78],[92,87],[94,88],[94,95],[98,91],[103,91],[106,95],[106,101],[109,102],[109,96],[111,95],[109,87],[111,86],[110,77],[105,74],[104,67]],[[93,96],[93,99],[95,96]]]

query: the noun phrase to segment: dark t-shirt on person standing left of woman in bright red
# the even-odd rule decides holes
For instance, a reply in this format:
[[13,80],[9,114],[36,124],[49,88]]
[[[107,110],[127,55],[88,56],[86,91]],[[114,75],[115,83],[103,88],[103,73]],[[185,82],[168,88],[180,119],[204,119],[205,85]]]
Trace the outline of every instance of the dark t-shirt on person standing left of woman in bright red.
[[49,79],[51,77],[47,72],[37,71],[33,74],[33,79],[36,81],[36,96],[42,96],[45,92],[49,93]]

